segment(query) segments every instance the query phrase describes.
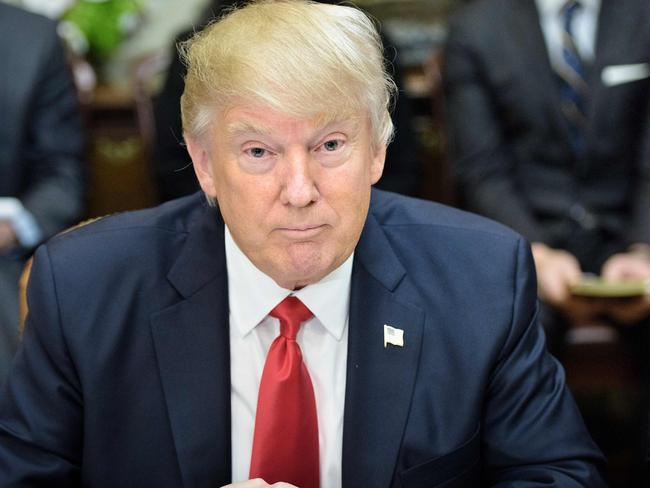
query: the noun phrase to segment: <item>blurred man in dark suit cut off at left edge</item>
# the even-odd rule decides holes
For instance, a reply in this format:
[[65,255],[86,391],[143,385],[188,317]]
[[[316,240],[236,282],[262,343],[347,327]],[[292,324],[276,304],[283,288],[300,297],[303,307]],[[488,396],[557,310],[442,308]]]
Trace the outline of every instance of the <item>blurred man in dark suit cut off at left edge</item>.
[[17,345],[18,278],[82,210],[83,130],[56,24],[0,3],[0,383]]

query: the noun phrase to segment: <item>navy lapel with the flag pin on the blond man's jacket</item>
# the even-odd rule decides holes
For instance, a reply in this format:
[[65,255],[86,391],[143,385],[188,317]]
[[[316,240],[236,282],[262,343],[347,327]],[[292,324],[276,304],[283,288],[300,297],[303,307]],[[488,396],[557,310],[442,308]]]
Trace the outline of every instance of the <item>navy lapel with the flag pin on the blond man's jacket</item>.
[[[420,355],[424,313],[398,291],[405,271],[368,216],[355,251],[343,427],[343,486],[390,486]],[[414,297],[409,297],[412,301]],[[384,348],[384,324],[404,347]]]

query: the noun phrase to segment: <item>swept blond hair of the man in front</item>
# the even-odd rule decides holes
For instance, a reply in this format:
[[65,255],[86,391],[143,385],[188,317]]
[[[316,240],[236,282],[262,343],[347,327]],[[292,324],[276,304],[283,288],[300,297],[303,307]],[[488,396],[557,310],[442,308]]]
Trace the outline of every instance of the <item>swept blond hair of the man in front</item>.
[[353,7],[258,0],[234,9],[179,47],[186,137],[201,140],[216,109],[260,103],[300,118],[369,117],[373,145],[393,134],[396,92],[373,22]]

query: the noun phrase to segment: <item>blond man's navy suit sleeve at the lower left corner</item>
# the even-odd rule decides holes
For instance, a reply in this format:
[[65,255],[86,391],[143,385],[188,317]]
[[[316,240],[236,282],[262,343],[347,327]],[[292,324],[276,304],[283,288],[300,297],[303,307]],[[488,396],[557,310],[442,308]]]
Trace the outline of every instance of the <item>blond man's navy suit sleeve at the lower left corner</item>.
[[28,302],[23,343],[0,390],[0,486],[79,486],[83,400],[45,247]]

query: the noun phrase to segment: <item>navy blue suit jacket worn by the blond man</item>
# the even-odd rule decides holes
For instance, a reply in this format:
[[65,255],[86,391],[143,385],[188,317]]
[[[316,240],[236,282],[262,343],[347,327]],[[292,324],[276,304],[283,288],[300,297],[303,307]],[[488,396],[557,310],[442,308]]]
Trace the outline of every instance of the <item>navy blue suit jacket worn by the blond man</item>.
[[[223,230],[197,194],[39,249],[0,399],[1,486],[229,482]],[[352,271],[343,486],[604,486],[535,310],[521,237],[373,191]],[[404,347],[384,347],[384,324]]]

